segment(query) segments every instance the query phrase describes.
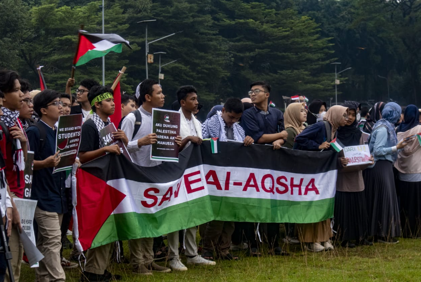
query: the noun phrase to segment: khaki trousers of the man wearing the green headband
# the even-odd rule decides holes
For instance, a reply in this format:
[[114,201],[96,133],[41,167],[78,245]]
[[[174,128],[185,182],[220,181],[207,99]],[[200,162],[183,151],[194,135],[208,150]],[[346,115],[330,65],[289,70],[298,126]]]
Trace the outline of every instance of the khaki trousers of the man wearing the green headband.
[[110,263],[114,243],[89,249],[86,253],[85,271],[102,275]]

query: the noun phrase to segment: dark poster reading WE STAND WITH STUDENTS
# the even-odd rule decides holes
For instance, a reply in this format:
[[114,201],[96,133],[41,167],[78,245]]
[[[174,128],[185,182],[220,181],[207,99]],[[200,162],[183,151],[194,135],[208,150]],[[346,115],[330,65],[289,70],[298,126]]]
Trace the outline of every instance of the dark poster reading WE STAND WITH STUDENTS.
[[60,162],[53,173],[71,170],[78,156],[82,131],[82,114],[61,116],[58,118],[56,152],[60,151]]

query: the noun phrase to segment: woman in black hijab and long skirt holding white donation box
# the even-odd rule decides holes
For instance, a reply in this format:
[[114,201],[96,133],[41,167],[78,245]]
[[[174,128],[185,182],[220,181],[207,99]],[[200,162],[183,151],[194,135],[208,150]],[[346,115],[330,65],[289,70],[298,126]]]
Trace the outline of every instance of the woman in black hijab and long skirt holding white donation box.
[[[348,120],[345,126],[338,128],[337,139],[346,147],[364,145],[363,132],[357,127],[358,103],[347,101],[343,107],[349,109]],[[355,248],[352,240],[358,244],[373,244],[366,239],[368,221],[362,173],[366,167],[338,169],[333,230],[337,232],[341,245],[347,248]]]

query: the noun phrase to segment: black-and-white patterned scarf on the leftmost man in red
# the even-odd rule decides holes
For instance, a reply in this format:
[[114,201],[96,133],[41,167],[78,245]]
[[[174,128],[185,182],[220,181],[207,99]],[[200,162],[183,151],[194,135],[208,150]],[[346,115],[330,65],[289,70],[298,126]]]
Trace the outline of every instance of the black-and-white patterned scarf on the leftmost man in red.
[[[11,128],[16,124],[23,131],[22,125],[18,119],[19,111],[13,112],[5,107],[2,107],[2,111],[3,116],[0,118],[0,120],[4,122],[8,128]],[[25,160],[23,158],[23,150],[19,139],[12,139],[12,157],[14,164],[13,171],[23,171],[25,169]]]

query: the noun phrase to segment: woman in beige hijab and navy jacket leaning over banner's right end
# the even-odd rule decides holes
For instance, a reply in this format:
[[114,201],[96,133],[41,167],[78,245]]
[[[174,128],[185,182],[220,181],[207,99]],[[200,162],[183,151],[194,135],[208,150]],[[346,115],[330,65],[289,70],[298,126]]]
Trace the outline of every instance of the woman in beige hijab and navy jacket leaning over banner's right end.
[[[330,140],[336,136],[338,127],[345,126],[348,119],[348,108],[334,105],[326,113],[324,120],[331,127],[330,136],[327,136],[325,122],[320,121],[306,127],[295,137],[294,149],[304,151],[320,151],[329,149]],[[346,166],[348,160],[341,158],[342,166]],[[318,223],[297,224],[300,239],[306,243],[306,249],[311,252],[333,250],[330,238],[333,236],[330,227],[330,219]]]

